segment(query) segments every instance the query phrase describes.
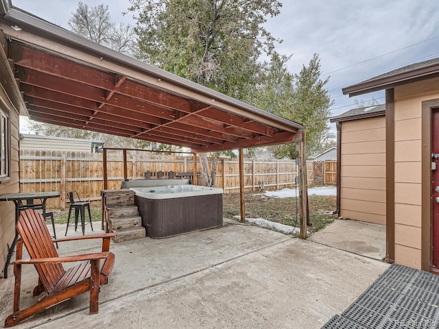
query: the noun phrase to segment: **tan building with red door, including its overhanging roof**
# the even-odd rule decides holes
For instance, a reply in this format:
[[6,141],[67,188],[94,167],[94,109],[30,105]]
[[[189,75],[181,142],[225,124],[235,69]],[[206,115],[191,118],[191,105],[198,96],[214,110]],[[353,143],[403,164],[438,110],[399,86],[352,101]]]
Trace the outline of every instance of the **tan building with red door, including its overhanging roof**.
[[376,90],[385,90],[387,260],[439,273],[439,58],[378,75],[343,93]]

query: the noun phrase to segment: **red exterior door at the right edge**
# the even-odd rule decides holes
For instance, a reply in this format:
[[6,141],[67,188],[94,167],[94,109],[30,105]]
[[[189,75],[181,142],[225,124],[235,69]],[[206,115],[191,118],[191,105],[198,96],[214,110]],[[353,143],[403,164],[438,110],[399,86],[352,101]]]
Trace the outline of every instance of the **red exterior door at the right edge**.
[[[435,169],[436,168],[436,169]],[[431,196],[433,205],[433,267],[439,269],[439,108],[431,112]]]

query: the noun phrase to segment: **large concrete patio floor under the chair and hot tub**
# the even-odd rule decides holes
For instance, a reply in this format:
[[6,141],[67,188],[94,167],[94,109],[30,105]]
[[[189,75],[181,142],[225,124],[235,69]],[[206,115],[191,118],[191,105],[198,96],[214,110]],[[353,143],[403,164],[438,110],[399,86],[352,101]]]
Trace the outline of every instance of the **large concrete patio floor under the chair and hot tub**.
[[[58,226],[58,236],[64,230]],[[86,227],[86,234],[97,232]],[[80,232],[69,228],[73,234]],[[59,253],[95,249],[98,241],[64,243]],[[85,293],[14,328],[320,328],[389,266],[231,220],[222,228],[110,249],[116,263],[99,294],[99,314],[88,315]],[[37,283],[34,267],[24,270],[22,309],[36,300]],[[12,266],[8,273],[0,279],[2,325],[12,313]]]

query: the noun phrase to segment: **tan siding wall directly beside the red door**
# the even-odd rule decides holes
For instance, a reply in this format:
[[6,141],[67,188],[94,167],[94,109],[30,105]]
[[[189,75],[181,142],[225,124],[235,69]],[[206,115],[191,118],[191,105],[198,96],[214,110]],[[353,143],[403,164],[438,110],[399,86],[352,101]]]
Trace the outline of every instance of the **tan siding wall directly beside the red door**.
[[[395,262],[420,269],[422,101],[439,98],[439,79],[394,89]],[[436,89],[436,91],[434,90]]]

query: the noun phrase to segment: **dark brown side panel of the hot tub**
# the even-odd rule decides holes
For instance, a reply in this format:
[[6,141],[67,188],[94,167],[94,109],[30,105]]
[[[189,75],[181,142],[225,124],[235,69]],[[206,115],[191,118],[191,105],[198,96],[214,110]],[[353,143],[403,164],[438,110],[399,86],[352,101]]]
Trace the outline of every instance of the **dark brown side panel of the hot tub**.
[[135,196],[147,236],[164,238],[222,226],[222,194],[147,199]]

